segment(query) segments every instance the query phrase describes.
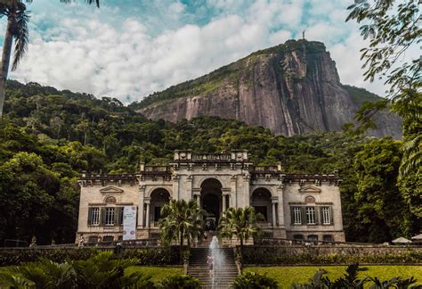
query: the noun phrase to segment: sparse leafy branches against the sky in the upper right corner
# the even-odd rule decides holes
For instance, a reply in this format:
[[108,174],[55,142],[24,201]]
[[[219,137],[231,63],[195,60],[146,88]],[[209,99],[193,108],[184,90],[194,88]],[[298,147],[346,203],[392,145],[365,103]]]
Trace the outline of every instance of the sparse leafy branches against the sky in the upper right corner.
[[[418,25],[418,1],[360,0],[348,8],[346,21],[355,20],[361,25],[361,35],[369,38],[369,47],[361,49],[365,60],[365,79],[373,81],[378,74],[385,76],[390,92],[410,88],[418,82],[420,62],[415,57],[392,70],[402,54],[418,44],[422,29]],[[416,55],[415,55],[416,56]]]

